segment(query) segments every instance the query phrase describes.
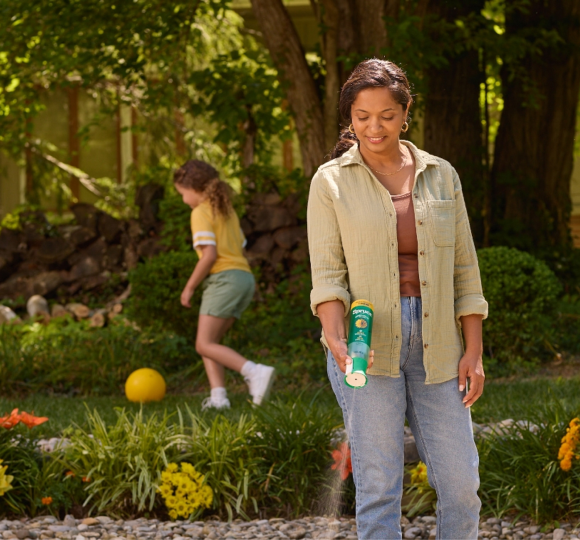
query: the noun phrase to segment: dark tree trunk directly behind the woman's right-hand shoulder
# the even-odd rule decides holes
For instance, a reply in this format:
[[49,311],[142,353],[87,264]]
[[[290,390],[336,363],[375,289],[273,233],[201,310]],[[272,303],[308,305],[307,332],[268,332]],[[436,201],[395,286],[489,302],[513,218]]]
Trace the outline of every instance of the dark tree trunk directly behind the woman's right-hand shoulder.
[[[479,14],[484,0],[430,2],[428,13],[453,23],[460,17]],[[437,23],[435,23],[437,24]],[[427,28],[426,31],[429,31]],[[432,39],[438,39],[432,33]],[[463,185],[465,201],[478,244],[483,241],[486,171],[479,106],[484,80],[478,51],[466,50],[448,58],[444,67],[426,70],[425,150],[449,161]]]

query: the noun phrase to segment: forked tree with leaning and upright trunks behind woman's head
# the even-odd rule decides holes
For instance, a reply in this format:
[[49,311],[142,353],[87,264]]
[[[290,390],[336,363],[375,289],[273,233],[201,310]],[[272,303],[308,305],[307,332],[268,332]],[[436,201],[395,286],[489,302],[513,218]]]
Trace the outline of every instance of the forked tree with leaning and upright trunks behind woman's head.
[[338,134],[338,95],[349,74],[348,67],[338,62],[338,57],[362,59],[379,55],[388,43],[385,17],[395,17],[400,2],[368,0],[363,5],[357,0],[311,0],[322,29],[321,52],[326,77],[321,93],[282,0],[251,1],[264,42],[287,88],[304,172],[311,176],[324,162]]

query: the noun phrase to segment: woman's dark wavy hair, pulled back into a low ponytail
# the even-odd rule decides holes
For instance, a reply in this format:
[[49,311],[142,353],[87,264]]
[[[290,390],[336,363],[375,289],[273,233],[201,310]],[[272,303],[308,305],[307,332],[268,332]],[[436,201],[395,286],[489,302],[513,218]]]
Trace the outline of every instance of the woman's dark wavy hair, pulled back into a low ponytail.
[[340,132],[338,142],[330,154],[331,159],[342,156],[356,144],[356,135],[348,130],[352,121],[351,107],[359,92],[367,88],[388,88],[393,99],[402,105],[403,109],[407,109],[413,103],[409,81],[399,66],[378,58],[361,62],[354,68],[340,91],[338,110],[347,127]]

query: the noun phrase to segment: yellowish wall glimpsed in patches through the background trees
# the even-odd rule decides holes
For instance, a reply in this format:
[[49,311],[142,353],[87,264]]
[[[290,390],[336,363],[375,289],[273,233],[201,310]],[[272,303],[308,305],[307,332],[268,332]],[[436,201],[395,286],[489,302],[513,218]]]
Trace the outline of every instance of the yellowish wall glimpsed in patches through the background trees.
[[[290,16],[298,31],[306,51],[314,51],[318,41],[318,23],[312,12],[309,0],[285,0]],[[234,0],[233,8],[244,18],[245,25],[258,30],[253,17],[249,0]],[[91,94],[84,89],[69,88],[55,90],[45,96],[46,109],[34,122],[33,137],[47,140],[59,148],[64,161],[70,163],[94,178],[109,177],[122,183],[127,178],[127,171],[141,159],[147,159],[148,144],[146,136],[131,130],[136,123],[137,111],[129,106],[120,106],[116,114],[101,117],[95,125],[94,118],[98,104]],[[77,138],[80,129],[91,125],[86,144],[81,145]],[[412,140],[421,147],[422,126],[418,115],[414,123]],[[176,147],[181,144],[179,135],[175,136]],[[0,153],[0,218],[18,204],[25,202],[27,186],[27,157],[22,157],[19,166],[6,155]],[[297,140],[280,143],[279,151],[274,158],[278,165],[288,169],[300,166],[300,152]],[[71,178],[70,189],[73,195],[82,202],[96,200],[78,179]],[[570,182],[572,197],[571,228],[574,243],[580,247],[580,153],[576,157],[574,171]],[[47,209],[54,208],[54,201],[45,200]]]

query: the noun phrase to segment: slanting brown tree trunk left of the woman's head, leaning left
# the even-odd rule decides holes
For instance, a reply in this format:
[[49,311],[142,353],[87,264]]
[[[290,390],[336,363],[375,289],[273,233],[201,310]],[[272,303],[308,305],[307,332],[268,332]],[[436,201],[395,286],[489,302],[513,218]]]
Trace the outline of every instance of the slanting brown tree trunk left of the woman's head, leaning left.
[[325,147],[322,103],[304,50],[282,0],[251,1],[266,47],[281,83],[287,88],[288,103],[300,139],[304,174],[312,176],[330,149]]

